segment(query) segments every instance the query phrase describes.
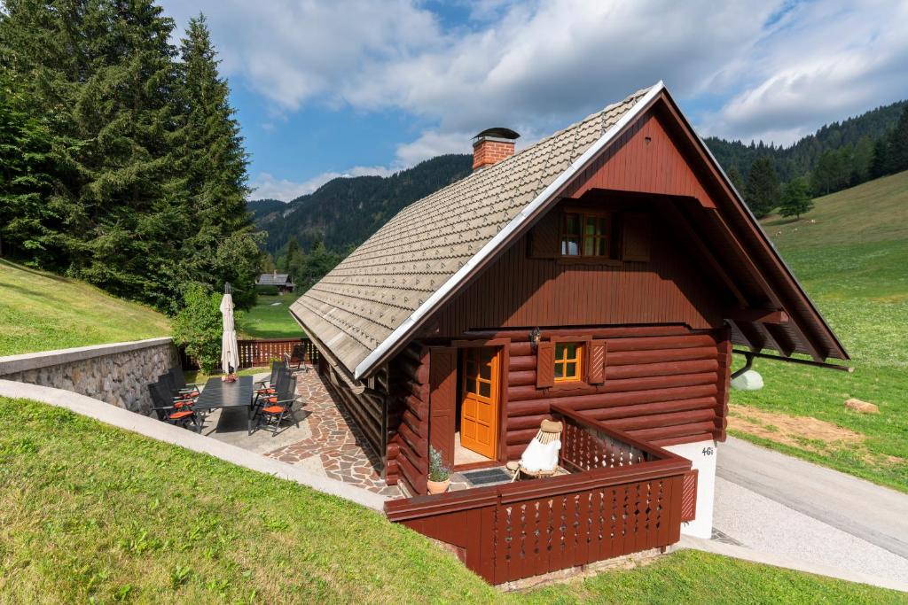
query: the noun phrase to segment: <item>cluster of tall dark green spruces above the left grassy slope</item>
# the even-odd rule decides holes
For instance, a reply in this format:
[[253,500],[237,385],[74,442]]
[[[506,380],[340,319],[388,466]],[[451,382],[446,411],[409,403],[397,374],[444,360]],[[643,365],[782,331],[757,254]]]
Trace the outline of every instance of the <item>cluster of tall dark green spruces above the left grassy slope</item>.
[[247,156],[204,17],[153,0],[5,0],[0,254],[178,311],[254,300]]

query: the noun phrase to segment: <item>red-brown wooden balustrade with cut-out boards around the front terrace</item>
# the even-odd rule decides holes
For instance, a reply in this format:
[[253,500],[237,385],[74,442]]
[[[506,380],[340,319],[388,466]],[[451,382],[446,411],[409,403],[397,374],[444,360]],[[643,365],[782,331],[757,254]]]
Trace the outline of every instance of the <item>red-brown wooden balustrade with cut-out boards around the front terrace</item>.
[[453,544],[493,584],[677,542],[690,461],[561,406],[552,412],[565,422],[562,467],[577,472],[390,501],[388,518]]

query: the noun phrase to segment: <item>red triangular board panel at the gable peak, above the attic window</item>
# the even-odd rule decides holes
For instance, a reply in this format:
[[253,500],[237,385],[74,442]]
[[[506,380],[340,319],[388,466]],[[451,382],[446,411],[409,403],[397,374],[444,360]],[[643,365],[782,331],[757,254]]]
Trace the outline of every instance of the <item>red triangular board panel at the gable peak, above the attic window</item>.
[[563,195],[579,198],[591,189],[687,196],[716,208],[657,112],[647,113],[627,129]]

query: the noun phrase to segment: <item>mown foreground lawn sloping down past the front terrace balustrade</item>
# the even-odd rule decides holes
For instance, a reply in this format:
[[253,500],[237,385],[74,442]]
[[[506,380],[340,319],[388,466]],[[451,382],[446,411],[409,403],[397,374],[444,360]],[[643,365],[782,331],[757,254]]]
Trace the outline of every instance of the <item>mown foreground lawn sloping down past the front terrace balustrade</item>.
[[502,594],[418,533],[339,498],[68,411],[0,398],[0,600],[905,602],[682,551]]

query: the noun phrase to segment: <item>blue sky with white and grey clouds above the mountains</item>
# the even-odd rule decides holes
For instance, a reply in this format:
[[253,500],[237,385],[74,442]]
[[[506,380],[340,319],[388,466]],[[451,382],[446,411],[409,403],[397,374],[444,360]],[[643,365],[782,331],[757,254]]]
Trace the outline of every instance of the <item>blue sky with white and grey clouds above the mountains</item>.
[[528,144],[658,80],[701,134],[788,144],[908,97],[908,0],[162,0],[203,12],[252,198]]

